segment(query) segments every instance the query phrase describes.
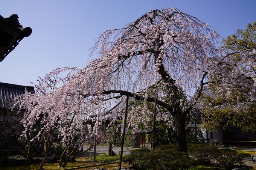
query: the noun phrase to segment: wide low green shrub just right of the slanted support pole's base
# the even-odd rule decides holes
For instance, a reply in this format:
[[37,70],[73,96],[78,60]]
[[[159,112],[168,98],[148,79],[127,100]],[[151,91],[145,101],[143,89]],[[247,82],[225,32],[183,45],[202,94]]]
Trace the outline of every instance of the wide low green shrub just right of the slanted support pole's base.
[[179,170],[195,165],[196,161],[184,152],[174,149],[137,149],[123,158],[123,162],[133,165],[137,170]]

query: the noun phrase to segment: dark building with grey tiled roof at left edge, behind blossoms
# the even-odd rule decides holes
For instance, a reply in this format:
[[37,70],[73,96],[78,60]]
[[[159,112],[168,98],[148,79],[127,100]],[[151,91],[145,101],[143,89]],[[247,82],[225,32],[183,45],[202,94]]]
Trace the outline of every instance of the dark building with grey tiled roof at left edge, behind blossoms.
[[22,126],[20,121],[23,113],[19,114],[19,106],[11,110],[12,102],[15,97],[25,93],[34,93],[34,87],[21,86],[9,83],[0,83],[0,151],[17,148],[17,137],[20,136]]

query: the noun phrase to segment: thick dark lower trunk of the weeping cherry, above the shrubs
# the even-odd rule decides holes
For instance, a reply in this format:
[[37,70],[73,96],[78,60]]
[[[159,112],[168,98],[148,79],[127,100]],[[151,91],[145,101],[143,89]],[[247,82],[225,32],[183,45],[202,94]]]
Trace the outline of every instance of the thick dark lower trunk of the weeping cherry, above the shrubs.
[[186,115],[176,113],[173,115],[175,125],[176,146],[178,152],[187,153]]

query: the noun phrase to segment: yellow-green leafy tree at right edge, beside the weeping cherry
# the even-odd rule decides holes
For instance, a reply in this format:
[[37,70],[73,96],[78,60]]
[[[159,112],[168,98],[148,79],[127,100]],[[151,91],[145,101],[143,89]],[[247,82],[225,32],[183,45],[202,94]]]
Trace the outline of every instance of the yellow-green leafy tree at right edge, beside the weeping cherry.
[[[218,77],[212,77],[212,81],[216,82],[210,86],[214,96],[201,96],[201,108],[206,115],[204,126],[212,129],[215,126],[232,125],[241,127],[242,132],[254,132],[256,101],[251,86],[254,86],[256,77],[256,21],[247,24],[244,30],[238,29],[236,34],[229,35],[222,43],[222,50],[232,58],[223,66],[224,69],[230,76],[239,76],[237,80],[229,81],[229,75],[223,75],[221,78],[226,80],[225,84],[219,83]],[[244,78],[250,85],[239,83],[239,78]]]

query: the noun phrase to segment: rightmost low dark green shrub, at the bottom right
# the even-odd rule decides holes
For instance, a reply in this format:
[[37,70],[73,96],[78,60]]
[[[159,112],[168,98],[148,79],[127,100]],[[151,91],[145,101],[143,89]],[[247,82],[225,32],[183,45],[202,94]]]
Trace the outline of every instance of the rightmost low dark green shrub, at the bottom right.
[[236,163],[242,164],[242,159],[250,157],[251,155],[249,153],[238,153],[235,150],[219,149],[216,161],[228,170],[235,168]]

